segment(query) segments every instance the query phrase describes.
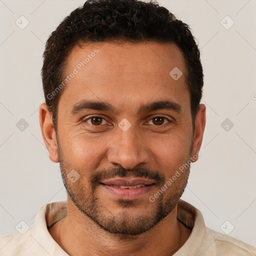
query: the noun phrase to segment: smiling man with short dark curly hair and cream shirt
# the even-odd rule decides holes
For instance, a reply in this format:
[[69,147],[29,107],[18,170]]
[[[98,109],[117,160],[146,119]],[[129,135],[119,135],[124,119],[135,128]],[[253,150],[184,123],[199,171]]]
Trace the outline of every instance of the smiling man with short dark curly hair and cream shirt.
[[1,237],[0,255],[256,253],[180,200],[205,126],[185,23],[153,2],[88,0],[48,38],[42,82],[42,137],[67,201]]

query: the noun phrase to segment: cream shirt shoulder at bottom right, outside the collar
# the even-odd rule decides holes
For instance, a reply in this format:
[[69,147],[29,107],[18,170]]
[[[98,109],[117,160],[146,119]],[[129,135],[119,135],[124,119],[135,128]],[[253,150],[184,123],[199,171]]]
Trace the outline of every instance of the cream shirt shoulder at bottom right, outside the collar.
[[220,233],[209,227],[205,228],[206,236],[211,236],[213,239],[213,247],[216,256],[222,255],[256,255],[256,248],[248,243],[245,243],[233,236]]

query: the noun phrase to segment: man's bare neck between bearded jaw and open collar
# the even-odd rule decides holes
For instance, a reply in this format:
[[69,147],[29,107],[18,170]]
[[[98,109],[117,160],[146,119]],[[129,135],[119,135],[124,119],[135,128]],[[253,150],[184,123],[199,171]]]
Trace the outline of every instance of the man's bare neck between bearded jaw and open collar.
[[53,239],[69,255],[172,255],[191,230],[177,220],[177,205],[164,219],[139,235],[113,234],[84,216],[67,200],[68,214],[49,228]]

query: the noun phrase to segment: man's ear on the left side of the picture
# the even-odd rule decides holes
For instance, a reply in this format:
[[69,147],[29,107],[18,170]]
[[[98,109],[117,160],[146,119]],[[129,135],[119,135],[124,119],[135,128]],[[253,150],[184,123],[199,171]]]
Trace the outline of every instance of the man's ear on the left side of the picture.
[[41,126],[42,138],[49,151],[49,158],[53,162],[59,162],[57,153],[57,140],[52,123],[52,115],[48,110],[46,103],[39,107],[39,121]]

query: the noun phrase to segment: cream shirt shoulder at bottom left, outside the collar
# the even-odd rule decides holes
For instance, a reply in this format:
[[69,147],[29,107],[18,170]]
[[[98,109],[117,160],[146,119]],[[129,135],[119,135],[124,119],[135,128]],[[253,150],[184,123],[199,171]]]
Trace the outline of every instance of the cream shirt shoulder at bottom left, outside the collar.
[[40,244],[31,236],[31,229],[32,227],[29,227],[24,234],[13,232],[1,236],[0,256],[34,256],[38,253],[40,253],[40,255],[44,255],[46,251],[43,250]]

